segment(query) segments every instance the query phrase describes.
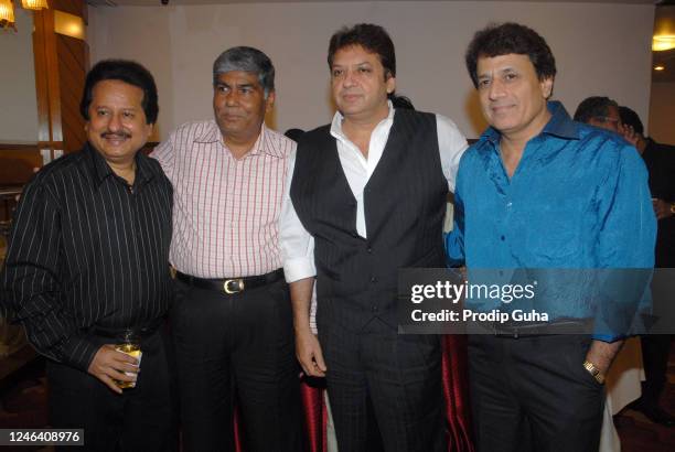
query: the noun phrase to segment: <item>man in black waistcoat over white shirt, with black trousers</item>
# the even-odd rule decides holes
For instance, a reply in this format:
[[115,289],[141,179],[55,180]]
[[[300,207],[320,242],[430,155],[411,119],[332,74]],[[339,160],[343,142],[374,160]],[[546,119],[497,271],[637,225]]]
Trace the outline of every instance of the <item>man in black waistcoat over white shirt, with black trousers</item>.
[[326,377],[341,451],[367,449],[368,401],[385,450],[442,451],[439,337],[397,334],[397,273],[444,267],[446,198],[467,142],[447,118],[393,106],[383,28],[338,31],[328,62],[338,111],[300,139],[280,228],[297,355]]

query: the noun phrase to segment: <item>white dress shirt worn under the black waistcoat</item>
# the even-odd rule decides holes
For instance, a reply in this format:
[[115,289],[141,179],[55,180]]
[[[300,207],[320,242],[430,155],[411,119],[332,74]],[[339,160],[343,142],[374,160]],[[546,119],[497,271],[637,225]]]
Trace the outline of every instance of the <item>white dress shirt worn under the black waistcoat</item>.
[[[338,140],[338,155],[346,175],[350,189],[356,198],[356,232],[362,237],[367,237],[363,189],[371,175],[377,168],[384,152],[389,131],[394,123],[396,110],[389,101],[389,112],[385,119],[373,130],[368,143],[368,158],[366,159],[356,144],[342,132],[343,116],[335,112],[331,123],[331,134]],[[438,133],[438,149],[443,175],[448,180],[448,187],[454,191],[454,179],[459,168],[459,161],[467,150],[467,139],[459,131],[454,122],[449,118],[436,115]],[[310,278],[317,275],[314,267],[314,238],[304,229],[296,208],[290,200],[290,181],[296,165],[296,153],[289,157],[288,183],[283,195],[281,207],[279,238],[283,271],[288,282]]]

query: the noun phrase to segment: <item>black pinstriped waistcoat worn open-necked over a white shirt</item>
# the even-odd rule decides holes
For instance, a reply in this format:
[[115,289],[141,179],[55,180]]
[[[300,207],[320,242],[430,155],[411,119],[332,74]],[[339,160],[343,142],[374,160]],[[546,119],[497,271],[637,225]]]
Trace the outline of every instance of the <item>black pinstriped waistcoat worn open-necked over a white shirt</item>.
[[290,195],[314,237],[319,330],[335,322],[358,329],[373,316],[397,324],[398,269],[444,267],[447,194],[436,116],[396,110],[382,159],[364,187],[363,238],[330,126],[302,137]]

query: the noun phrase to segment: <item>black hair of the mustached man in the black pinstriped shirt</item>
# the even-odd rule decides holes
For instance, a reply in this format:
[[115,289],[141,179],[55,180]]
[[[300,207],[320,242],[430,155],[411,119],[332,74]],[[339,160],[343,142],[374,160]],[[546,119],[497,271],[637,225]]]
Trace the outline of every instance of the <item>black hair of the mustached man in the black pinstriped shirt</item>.
[[146,123],[157,122],[159,105],[157,103],[157,86],[150,71],[137,62],[129,60],[103,60],[94,65],[85,80],[79,112],[87,121],[89,118],[89,105],[94,97],[94,86],[104,80],[120,80],[137,86],[143,90],[141,106],[146,114]]

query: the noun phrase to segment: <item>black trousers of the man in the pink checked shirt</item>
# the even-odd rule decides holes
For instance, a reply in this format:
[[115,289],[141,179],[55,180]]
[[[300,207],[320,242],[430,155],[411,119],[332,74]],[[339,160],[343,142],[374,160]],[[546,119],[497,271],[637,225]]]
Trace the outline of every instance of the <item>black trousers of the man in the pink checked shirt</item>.
[[176,280],[171,312],[183,450],[234,451],[235,397],[247,452],[302,450],[288,284],[226,295]]

